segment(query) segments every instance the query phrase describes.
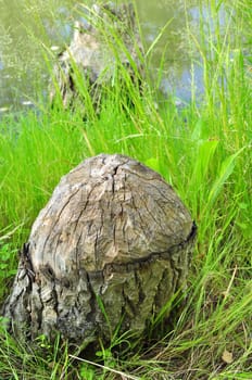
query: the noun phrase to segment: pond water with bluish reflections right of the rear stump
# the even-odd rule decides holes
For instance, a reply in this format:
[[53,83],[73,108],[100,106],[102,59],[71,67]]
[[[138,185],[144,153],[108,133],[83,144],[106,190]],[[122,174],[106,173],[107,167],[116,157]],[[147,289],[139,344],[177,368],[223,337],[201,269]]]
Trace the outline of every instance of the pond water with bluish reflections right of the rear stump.
[[[162,80],[159,88],[166,94],[173,94],[180,100],[190,99],[191,61],[196,54],[188,39],[188,30],[197,31],[197,21],[190,14],[196,7],[196,1],[163,0],[138,1],[138,10],[142,21],[142,29],[146,45],[150,46],[156,39],[165,25],[162,37],[155,45],[150,65],[155,76],[159,76],[160,63],[162,64]],[[154,21],[154,22],[153,22]],[[196,75],[201,81],[201,69],[197,67]],[[203,90],[202,84],[200,89]]]

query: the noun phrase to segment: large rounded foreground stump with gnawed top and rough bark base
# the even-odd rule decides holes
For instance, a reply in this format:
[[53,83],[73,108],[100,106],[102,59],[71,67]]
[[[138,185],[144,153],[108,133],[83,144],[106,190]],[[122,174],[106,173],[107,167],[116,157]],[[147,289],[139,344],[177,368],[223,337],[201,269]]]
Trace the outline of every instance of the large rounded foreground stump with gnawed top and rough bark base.
[[159,174],[123,155],[88,159],[38,215],[3,315],[29,338],[110,341],[118,324],[140,334],[184,286],[194,236]]

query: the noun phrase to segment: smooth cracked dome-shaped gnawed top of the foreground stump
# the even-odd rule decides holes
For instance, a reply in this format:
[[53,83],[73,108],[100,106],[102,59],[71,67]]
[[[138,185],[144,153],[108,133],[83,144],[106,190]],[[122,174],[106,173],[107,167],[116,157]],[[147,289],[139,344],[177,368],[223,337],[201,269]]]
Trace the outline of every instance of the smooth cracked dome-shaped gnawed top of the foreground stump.
[[172,187],[124,155],[100,154],[65,175],[29,237],[35,273],[127,270],[182,249],[194,225]]

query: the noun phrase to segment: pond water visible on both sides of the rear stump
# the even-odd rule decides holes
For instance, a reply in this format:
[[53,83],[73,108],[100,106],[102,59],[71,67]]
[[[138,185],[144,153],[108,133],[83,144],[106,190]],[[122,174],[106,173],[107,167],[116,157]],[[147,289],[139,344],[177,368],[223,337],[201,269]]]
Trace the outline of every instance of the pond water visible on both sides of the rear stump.
[[[186,9],[185,1],[178,0],[136,3],[147,49],[168,23],[151,54],[154,81],[165,54],[163,78],[158,86],[177,97],[178,102],[189,101],[191,62],[198,58],[187,36],[188,28],[192,34],[199,33],[197,2],[186,1]],[[0,0],[0,113],[33,106],[38,94],[47,96],[45,56],[48,52],[53,56],[70,40],[77,4],[73,0]],[[201,93],[200,65],[193,75]]]

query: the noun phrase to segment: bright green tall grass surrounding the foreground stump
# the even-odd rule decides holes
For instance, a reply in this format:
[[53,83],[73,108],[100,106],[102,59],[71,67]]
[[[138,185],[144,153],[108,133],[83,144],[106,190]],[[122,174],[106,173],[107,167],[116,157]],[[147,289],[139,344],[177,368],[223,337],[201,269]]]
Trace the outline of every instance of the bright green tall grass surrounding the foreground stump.
[[214,22],[206,33],[197,37],[188,27],[202,59],[200,101],[192,87],[182,110],[173,100],[156,110],[155,94],[148,88],[140,94],[118,66],[134,106],[115,83],[99,116],[89,109],[84,121],[77,109],[41,105],[0,122],[1,301],[39,210],[61,176],[88,156],[123,153],[160,172],[199,227],[184,307],[172,330],[160,318],[144,343],[118,334],[111,346],[101,344],[90,364],[60,340],[49,344],[40,337],[33,351],[2,327],[1,379],[252,378],[252,63],[244,55],[252,17],[249,1],[227,2],[224,27],[220,3],[209,1]]

